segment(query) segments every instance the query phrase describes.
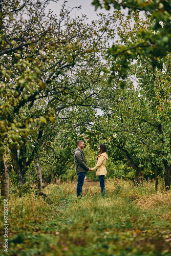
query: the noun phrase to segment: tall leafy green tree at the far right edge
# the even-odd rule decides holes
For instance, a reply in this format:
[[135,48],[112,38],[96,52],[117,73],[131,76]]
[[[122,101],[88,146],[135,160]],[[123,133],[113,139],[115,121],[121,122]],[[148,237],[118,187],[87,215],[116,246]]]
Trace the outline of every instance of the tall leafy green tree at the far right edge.
[[[151,26],[151,19],[137,19],[138,26],[146,27],[154,32]],[[134,26],[135,28],[135,26]],[[136,32],[137,31],[137,32]],[[129,38],[135,41],[138,37],[138,29],[122,33],[122,42]],[[135,131],[135,137],[142,144],[146,157],[155,169],[157,183],[157,169],[165,169],[165,186],[170,187],[170,54],[166,57],[157,58],[163,63],[160,70],[155,68],[152,60],[155,55],[144,54],[139,56],[137,62],[133,65],[132,71],[138,79],[139,100],[135,99],[127,118],[132,119],[132,123],[137,124],[134,127],[129,125],[128,131]],[[139,102],[139,103],[138,103]],[[137,104],[138,103],[138,104]],[[132,111],[133,110],[133,111]],[[143,153],[141,153],[143,155]],[[157,186],[157,185],[156,185]]]

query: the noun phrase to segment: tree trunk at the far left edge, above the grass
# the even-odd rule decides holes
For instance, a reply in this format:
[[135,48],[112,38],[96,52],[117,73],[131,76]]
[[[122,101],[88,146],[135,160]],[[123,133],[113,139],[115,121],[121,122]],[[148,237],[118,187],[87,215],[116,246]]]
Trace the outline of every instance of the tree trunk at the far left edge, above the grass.
[[8,198],[9,194],[9,174],[5,164],[4,154],[0,154],[0,173],[1,173],[1,196]]

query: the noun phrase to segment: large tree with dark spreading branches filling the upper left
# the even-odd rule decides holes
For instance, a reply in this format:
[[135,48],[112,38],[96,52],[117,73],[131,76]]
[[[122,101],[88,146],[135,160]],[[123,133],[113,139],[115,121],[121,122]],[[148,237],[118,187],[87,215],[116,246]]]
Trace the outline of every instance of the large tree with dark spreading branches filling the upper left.
[[1,160],[9,148],[22,185],[48,123],[91,100],[99,80],[92,70],[105,65],[103,52],[114,35],[109,17],[88,24],[85,15],[70,18],[65,3],[59,17],[46,13],[48,0],[0,3]]

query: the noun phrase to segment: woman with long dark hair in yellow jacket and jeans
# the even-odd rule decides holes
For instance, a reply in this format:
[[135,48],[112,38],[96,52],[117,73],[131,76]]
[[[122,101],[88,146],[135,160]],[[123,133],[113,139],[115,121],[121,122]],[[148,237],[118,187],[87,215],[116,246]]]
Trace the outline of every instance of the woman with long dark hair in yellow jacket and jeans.
[[98,147],[98,157],[96,159],[96,166],[91,170],[96,170],[96,176],[99,177],[100,187],[101,187],[101,195],[105,194],[105,186],[104,186],[104,176],[106,176],[106,160],[108,159],[108,155],[106,154],[106,146],[104,144],[99,144]]

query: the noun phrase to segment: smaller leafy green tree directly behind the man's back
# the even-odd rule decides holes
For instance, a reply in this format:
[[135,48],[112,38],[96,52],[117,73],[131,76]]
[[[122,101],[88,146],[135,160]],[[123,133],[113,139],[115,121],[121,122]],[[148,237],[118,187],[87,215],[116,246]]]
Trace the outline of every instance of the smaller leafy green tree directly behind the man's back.
[[39,154],[44,177],[53,180],[54,177],[70,175],[71,179],[74,178],[75,166],[72,152],[77,147],[76,141],[80,137],[82,139],[86,129],[90,129],[95,113],[93,108],[77,106],[60,113],[60,126],[49,123],[49,129],[42,138],[42,152]]

